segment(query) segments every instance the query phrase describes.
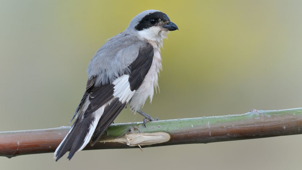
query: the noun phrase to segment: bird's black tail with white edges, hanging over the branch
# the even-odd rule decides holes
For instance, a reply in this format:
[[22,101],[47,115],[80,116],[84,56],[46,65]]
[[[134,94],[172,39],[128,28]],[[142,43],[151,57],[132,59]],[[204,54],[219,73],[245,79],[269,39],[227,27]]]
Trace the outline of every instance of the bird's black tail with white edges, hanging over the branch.
[[104,107],[105,106],[100,107],[93,114],[89,114],[86,117],[82,115],[82,117],[76,119],[75,123],[54,152],[54,159],[56,159],[56,161],[58,161],[69,149],[70,152],[67,157],[69,160],[76,152],[84,149],[95,132],[98,121],[104,112]]

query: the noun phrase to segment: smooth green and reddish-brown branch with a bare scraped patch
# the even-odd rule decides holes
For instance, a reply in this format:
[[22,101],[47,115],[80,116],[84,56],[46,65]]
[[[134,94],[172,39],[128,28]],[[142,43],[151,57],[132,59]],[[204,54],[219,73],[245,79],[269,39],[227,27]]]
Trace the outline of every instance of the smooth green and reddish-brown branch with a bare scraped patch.
[[[0,132],[0,156],[54,152],[70,127]],[[120,149],[211,143],[302,134],[302,108],[246,114],[111,124],[89,149]]]

